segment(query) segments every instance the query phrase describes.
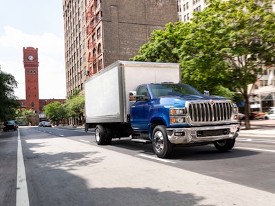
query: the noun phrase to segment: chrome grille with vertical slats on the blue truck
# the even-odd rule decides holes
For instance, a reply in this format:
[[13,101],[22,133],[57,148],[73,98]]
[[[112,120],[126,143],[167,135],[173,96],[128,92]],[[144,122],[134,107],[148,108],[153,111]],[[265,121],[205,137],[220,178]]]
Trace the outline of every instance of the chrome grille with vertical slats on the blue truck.
[[229,121],[234,108],[231,102],[189,102],[188,114],[193,123]]

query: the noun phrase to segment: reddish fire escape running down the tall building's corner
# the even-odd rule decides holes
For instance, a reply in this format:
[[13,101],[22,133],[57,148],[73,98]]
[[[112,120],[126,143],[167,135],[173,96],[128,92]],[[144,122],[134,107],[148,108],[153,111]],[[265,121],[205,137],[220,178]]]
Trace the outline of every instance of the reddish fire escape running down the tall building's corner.
[[94,68],[94,62],[96,61],[96,56],[93,54],[96,48],[96,43],[93,39],[94,32],[94,12],[91,10],[91,5],[86,8],[86,39],[87,39],[87,51],[88,51],[88,69],[87,76],[92,76],[96,71]]

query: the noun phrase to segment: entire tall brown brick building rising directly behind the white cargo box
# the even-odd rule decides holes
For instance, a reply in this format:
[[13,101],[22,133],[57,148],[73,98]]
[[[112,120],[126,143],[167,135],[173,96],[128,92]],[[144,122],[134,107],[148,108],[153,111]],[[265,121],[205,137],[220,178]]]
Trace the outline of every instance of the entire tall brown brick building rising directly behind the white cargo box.
[[63,0],[67,95],[88,76],[138,54],[153,30],[178,21],[177,0]]

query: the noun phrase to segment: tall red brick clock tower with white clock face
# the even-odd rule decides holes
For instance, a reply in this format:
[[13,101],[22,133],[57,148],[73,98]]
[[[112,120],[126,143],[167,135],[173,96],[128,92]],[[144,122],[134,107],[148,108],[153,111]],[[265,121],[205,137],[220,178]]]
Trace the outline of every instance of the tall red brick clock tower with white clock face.
[[38,49],[23,48],[23,63],[25,68],[25,106],[39,115],[39,58]]

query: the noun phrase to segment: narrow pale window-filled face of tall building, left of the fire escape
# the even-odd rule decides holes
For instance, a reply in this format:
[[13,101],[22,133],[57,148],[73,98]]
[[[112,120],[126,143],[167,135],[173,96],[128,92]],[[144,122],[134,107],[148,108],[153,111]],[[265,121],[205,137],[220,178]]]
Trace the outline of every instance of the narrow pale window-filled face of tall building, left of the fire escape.
[[82,91],[87,78],[86,5],[87,0],[63,0],[67,96]]

